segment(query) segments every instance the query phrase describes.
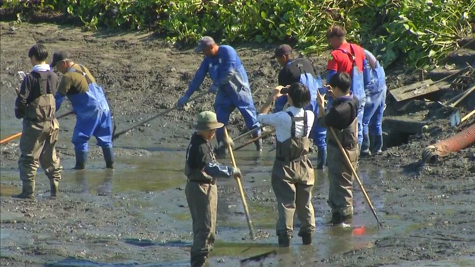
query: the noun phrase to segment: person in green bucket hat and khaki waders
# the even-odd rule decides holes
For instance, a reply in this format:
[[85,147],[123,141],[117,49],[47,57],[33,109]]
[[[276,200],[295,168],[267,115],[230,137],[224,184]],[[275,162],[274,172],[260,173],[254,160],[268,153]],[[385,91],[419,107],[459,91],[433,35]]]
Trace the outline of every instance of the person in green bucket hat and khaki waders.
[[198,114],[194,128],[197,132],[191,137],[186,153],[185,175],[188,182],[185,188],[191,219],[193,220],[193,245],[191,246],[191,266],[202,266],[206,262],[215,241],[216,210],[218,189],[216,178],[239,176],[238,168],[220,164],[216,161],[211,139],[216,130],[224,124],[218,123],[216,113],[203,111]]

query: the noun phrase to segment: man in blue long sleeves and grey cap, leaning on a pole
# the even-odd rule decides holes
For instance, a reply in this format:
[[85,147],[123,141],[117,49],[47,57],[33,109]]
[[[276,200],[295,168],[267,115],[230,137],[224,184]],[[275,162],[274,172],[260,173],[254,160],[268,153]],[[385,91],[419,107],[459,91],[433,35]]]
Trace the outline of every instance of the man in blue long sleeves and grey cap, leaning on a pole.
[[[218,122],[227,125],[229,115],[237,108],[244,117],[246,127],[249,130],[259,128],[256,108],[252,100],[251,88],[246,70],[236,50],[228,45],[218,45],[213,38],[205,36],[198,42],[196,52],[202,52],[204,59],[199,66],[195,77],[190,82],[185,95],[178,100],[177,105],[183,107],[191,95],[199,89],[206,73],[210,74],[213,84],[209,92],[216,95],[215,111]],[[253,137],[260,135],[260,130],[253,133]],[[218,129],[216,138],[219,143],[216,154],[223,157],[226,153],[226,143],[223,128]],[[262,139],[255,142],[256,150],[262,151]]]

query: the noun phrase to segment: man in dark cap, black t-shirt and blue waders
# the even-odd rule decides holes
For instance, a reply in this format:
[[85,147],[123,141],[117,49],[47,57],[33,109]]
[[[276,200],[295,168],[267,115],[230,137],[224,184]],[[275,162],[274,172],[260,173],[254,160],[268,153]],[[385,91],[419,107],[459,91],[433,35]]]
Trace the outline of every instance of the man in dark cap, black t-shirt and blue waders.
[[[294,58],[292,48],[287,44],[278,46],[272,58],[276,58],[282,67],[279,72],[279,85],[287,86],[294,82],[300,82],[309,88],[310,104],[304,109],[313,111],[315,117],[317,117],[317,90],[322,87],[322,82],[320,76],[315,74],[312,63],[305,58]],[[276,100],[274,112],[282,111],[286,103],[287,96],[279,97]],[[319,127],[315,123],[310,132],[310,136],[318,148],[316,168],[323,169],[326,165],[326,128]]]

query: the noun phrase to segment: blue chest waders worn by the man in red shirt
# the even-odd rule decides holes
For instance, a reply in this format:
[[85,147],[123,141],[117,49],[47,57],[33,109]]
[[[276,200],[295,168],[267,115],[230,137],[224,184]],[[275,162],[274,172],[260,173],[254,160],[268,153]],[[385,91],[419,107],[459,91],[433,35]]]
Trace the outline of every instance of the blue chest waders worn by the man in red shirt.
[[366,103],[366,94],[365,94],[365,85],[364,85],[364,76],[363,72],[358,69],[358,66],[355,61],[354,56],[354,49],[353,45],[350,44],[351,53],[338,48],[338,50],[343,51],[345,54],[348,55],[351,62],[353,63],[353,67],[351,69],[351,92],[353,95],[358,98],[360,105],[358,107],[358,143],[363,143],[363,114],[365,112],[365,103]]

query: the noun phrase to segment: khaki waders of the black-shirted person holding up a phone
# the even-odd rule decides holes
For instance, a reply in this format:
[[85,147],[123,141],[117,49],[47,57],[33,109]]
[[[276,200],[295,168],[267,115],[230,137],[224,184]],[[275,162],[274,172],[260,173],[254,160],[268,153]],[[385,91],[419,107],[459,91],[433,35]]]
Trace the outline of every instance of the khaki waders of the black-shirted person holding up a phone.
[[[351,102],[353,116],[358,112],[358,107]],[[356,168],[359,156],[358,145],[358,118],[345,129],[338,131],[335,129],[342,146],[348,152],[351,164]],[[340,224],[343,220],[349,220],[353,215],[353,175],[348,167],[345,158],[341,154],[335,137],[327,135],[328,140],[328,176],[329,176],[329,196],[328,204],[332,208],[331,223]],[[347,174],[347,175],[346,175]]]

